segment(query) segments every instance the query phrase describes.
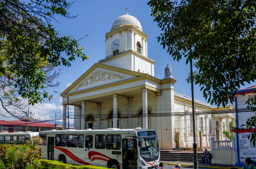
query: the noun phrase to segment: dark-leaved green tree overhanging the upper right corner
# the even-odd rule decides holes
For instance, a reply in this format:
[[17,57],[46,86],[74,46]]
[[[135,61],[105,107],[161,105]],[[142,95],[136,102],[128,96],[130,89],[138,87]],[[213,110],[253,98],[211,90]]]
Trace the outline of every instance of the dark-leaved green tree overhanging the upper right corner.
[[[173,60],[186,58],[188,63],[199,58],[193,76],[208,102],[225,107],[234,102],[240,85],[254,82],[255,1],[151,0],[148,4],[162,30],[158,41]],[[256,102],[251,103],[250,108],[255,108]],[[252,120],[247,122],[255,128]]]

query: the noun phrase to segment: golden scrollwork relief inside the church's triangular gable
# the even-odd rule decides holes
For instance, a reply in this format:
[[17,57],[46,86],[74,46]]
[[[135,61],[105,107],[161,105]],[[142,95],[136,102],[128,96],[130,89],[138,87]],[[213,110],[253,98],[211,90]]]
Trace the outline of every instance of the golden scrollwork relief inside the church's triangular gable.
[[115,74],[113,72],[104,72],[101,70],[97,70],[94,73],[92,73],[92,75],[90,75],[88,78],[84,79],[79,85],[78,87],[76,87],[74,90],[78,90],[80,87],[82,86],[87,86],[87,85],[91,85],[94,82],[97,81],[106,81],[106,80],[112,80],[112,79],[124,79],[125,76],[121,76],[119,74]]

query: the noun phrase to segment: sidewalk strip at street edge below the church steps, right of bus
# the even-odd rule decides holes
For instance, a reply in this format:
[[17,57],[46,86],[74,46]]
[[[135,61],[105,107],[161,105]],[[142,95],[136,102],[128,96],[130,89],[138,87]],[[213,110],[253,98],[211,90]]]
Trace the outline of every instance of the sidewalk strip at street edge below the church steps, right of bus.
[[[193,162],[182,162],[182,161],[161,161],[165,165],[172,165],[175,166],[176,164],[180,164],[181,166],[188,166],[192,167]],[[222,164],[197,164],[198,167],[203,167],[203,168],[216,168],[216,169],[242,169],[242,166],[229,166],[229,165],[222,165]]]

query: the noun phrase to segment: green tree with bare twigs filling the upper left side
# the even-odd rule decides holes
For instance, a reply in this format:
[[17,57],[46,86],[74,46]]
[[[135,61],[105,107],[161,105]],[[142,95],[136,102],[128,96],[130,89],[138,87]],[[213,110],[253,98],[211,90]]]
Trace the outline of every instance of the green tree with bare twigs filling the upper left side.
[[51,99],[47,87],[59,75],[59,65],[87,56],[78,41],[61,36],[51,21],[55,15],[69,16],[72,3],[66,0],[0,1],[0,102],[1,114],[22,118],[22,109],[43,99]]

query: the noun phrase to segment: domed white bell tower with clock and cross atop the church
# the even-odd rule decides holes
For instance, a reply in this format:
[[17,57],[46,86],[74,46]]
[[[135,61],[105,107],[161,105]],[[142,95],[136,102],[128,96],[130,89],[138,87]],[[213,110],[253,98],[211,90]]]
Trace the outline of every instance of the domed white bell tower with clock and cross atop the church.
[[155,62],[147,57],[147,34],[138,19],[126,13],[114,21],[106,33],[106,58],[99,63],[154,76]]

